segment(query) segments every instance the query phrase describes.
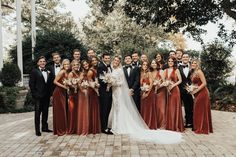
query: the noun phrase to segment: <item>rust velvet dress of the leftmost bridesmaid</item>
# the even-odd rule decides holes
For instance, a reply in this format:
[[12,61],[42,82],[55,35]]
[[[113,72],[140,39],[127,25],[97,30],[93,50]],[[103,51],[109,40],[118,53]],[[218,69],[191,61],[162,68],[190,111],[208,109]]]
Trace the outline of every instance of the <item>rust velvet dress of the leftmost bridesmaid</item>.
[[[64,74],[58,82],[63,84],[63,80],[68,76]],[[56,86],[53,92],[53,133],[62,136],[67,131],[67,96],[66,89]]]

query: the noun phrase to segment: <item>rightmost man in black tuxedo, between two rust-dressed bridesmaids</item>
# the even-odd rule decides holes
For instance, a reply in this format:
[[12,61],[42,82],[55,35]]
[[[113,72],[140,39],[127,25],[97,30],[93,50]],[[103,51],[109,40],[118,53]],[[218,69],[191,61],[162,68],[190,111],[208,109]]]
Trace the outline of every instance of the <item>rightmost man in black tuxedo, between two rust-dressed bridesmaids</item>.
[[186,90],[186,86],[191,84],[189,55],[183,54],[182,64],[179,66],[179,71],[182,77],[182,83],[179,85],[181,99],[185,109],[185,127],[193,127],[193,97]]

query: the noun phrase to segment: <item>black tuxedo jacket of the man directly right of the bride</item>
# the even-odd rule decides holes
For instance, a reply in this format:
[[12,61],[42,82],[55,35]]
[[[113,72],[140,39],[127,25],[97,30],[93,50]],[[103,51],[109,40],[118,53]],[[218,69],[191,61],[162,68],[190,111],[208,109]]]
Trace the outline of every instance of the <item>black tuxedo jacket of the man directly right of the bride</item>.
[[130,69],[130,75],[128,76],[127,68],[123,67],[125,78],[127,80],[129,89],[139,91],[140,88],[140,70],[137,66]]

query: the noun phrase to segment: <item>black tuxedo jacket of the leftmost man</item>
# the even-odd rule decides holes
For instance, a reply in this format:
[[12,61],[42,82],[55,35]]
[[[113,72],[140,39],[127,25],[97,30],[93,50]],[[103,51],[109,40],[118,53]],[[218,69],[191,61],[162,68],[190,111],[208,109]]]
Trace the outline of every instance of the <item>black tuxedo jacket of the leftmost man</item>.
[[29,79],[29,87],[32,93],[33,98],[40,99],[51,96],[51,83],[52,75],[50,71],[47,71],[47,83],[44,80],[43,74],[39,68],[32,70]]

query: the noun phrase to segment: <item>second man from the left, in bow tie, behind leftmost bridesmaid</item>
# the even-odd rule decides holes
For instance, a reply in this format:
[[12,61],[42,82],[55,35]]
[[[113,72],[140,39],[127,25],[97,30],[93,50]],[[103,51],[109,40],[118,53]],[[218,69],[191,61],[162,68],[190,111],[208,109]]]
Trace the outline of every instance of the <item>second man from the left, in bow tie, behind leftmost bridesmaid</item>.
[[[52,60],[53,60],[53,65],[49,67],[49,71],[51,72],[52,75],[52,80],[55,79],[59,71],[61,70],[61,56],[58,52],[52,53]],[[52,81],[52,92],[55,89],[55,84]]]

